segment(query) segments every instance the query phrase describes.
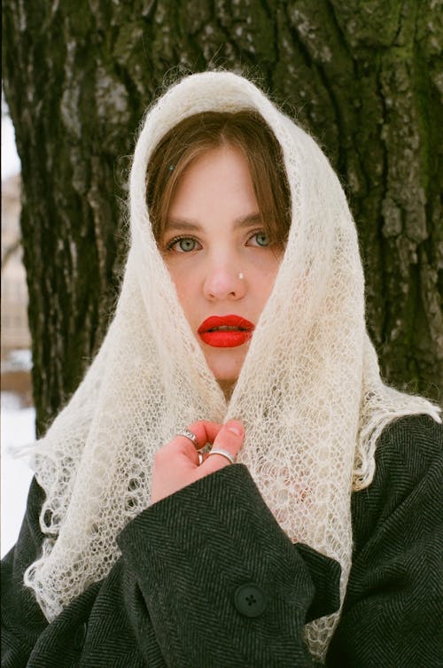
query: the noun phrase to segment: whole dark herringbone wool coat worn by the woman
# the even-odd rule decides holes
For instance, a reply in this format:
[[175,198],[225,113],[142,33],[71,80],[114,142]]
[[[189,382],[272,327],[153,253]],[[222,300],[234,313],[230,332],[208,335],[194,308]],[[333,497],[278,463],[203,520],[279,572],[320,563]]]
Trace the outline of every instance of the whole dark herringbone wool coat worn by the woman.
[[[328,666],[442,665],[443,429],[392,423],[368,489],[352,498],[354,555]],[[122,556],[50,625],[23,582],[38,554],[43,493],[31,486],[17,545],[2,563],[4,668],[286,668],[314,665],[303,625],[338,608],[337,563],[293,545],[243,465],[144,510]],[[247,617],[239,586],[264,593]]]

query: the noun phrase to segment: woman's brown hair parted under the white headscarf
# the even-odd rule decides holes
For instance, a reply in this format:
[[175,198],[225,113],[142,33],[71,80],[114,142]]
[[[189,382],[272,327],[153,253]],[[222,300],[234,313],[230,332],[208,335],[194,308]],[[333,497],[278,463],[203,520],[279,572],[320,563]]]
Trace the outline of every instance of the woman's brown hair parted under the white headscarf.
[[204,151],[223,144],[245,153],[263,227],[270,243],[283,248],[291,225],[291,195],[282,149],[261,116],[248,110],[195,114],[177,123],[156,146],[146,175],[154,237],[159,243],[186,167]]

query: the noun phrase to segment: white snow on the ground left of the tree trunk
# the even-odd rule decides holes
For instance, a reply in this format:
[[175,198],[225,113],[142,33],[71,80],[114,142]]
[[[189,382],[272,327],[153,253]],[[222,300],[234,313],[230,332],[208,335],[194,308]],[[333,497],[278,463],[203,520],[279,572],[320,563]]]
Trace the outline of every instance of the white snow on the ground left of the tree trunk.
[[33,477],[27,459],[12,456],[10,448],[35,440],[35,408],[21,408],[18,395],[2,392],[2,540],[4,556],[19,536],[27,490]]

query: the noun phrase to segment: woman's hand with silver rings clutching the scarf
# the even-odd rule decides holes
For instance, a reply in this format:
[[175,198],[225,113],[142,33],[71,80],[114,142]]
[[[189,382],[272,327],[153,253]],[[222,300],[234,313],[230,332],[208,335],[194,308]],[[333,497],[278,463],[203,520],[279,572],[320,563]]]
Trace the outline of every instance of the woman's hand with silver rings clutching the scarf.
[[[189,426],[198,439],[198,447],[212,443],[214,447],[228,450],[237,456],[243,446],[245,429],[238,420],[229,420],[226,424],[198,420]],[[229,466],[229,461],[221,454],[204,454],[203,462],[198,466],[198,452],[190,439],[175,436],[166,446],[159,449],[154,459],[152,470],[151,503],[164,499],[169,494],[178,492],[199,478],[204,478],[214,471]]]

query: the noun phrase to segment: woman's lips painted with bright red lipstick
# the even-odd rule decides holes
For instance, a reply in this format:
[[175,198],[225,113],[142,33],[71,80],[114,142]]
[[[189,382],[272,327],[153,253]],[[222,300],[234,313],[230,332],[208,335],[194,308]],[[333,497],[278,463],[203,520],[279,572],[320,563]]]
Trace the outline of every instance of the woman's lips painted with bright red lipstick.
[[211,315],[198,327],[198,335],[207,346],[235,348],[253,336],[254,325],[241,315]]

